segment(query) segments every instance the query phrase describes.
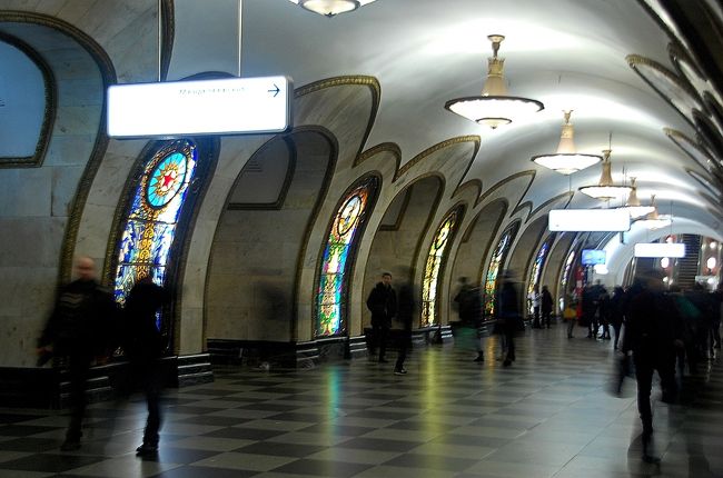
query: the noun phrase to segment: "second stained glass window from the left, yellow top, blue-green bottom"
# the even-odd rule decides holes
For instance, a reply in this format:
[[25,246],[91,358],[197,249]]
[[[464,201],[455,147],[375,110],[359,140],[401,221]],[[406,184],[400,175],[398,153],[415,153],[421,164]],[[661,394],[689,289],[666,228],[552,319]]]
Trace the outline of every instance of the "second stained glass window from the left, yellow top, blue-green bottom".
[[329,337],[346,330],[345,307],[347,280],[365,212],[376,197],[378,180],[369,177],[354,187],[341,200],[321,257],[319,289],[316,299],[316,337]]

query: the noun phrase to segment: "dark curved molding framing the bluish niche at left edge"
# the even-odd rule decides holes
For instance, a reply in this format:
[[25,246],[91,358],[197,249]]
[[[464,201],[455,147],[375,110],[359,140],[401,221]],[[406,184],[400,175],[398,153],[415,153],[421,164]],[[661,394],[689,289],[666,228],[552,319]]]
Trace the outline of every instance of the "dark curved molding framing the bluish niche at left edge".
[[40,74],[42,76],[43,90],[44,90],[44,111],[42,113],[42,123],[40,126],[40,133],[38,135],[38,142],[32,156],[23,158],[0,157],[0,169],[3,168],[38,168],[42,166],[50,143],[50,132],[55,125],[55,119],[58,113],[58,84],[52,69],[30,44],[21,39],[3,33],[0,31],[0,41],[8,43],[20,50],[26,57],[32,61]]

